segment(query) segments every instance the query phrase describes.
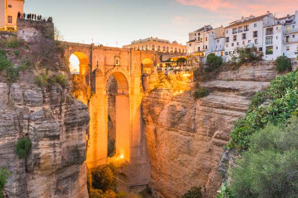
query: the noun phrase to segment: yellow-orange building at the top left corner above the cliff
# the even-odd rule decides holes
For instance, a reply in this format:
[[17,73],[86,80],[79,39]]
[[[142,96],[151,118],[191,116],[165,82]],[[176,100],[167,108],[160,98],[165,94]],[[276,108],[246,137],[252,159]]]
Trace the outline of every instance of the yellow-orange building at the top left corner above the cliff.
[[24,0],[0,0],[0,29],[15,30],[18,12],[24,12]]

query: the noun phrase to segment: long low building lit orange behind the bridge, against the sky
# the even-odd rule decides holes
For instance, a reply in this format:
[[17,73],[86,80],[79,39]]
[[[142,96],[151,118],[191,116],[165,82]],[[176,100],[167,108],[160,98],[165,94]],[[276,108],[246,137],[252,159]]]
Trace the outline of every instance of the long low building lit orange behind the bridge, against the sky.
[[153,38],[134,40],[129,45],[123,45],[123,48],[133,48],[134,50],[152,50],[161,53],[186,53],[186,46],[177,41]]

